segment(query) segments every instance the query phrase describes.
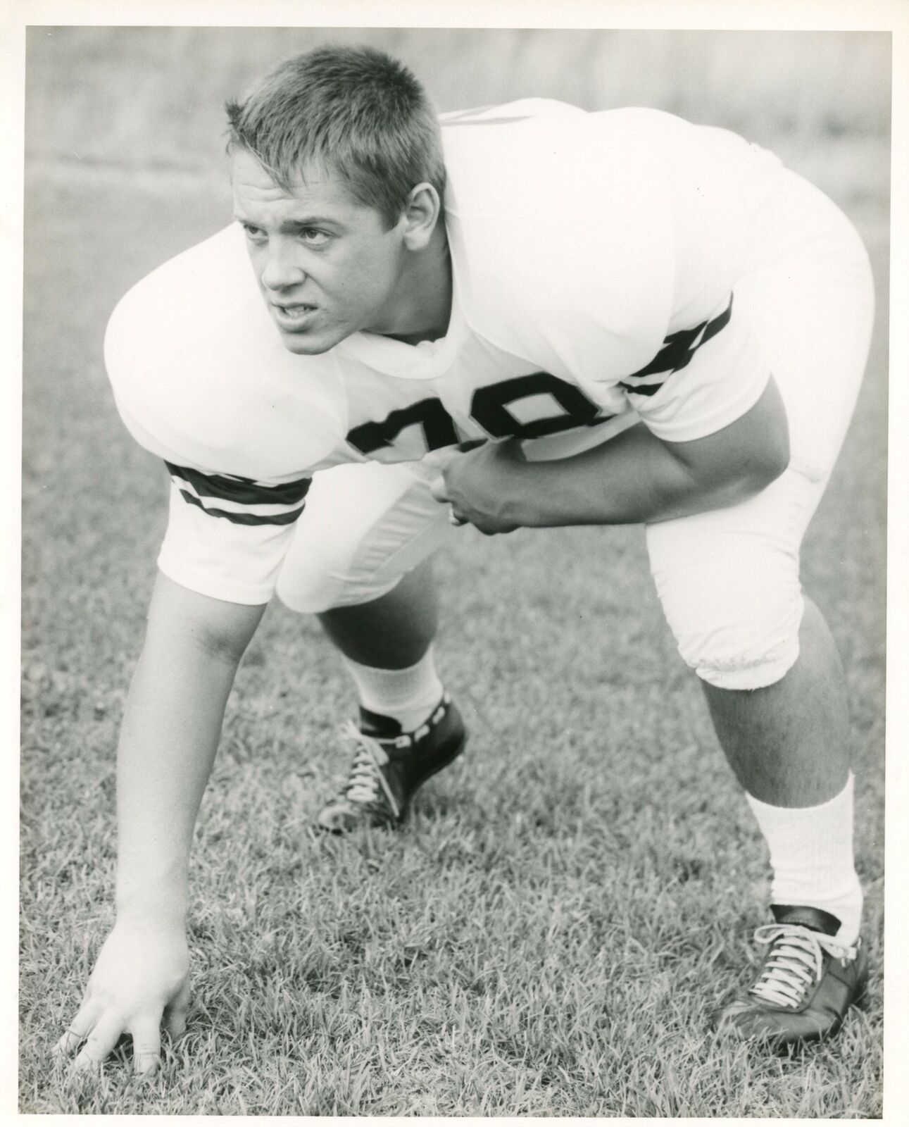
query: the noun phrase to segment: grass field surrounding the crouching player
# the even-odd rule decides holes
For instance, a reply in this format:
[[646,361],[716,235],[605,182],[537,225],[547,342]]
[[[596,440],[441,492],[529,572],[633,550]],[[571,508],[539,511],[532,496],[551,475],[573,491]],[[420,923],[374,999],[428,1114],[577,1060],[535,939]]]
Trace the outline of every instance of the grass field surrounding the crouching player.
[[[202,124],[179,117],[169,156],[155,151],[141,172],[124,165],[137,118],[122,121],[114,95],[127,78],[137,101],[163,88],[150,74],[158,47],[124,33],[117,54],[83,35],[63,77],[48,63],[59,43],[33,45],[29,64],[20,1110],[880,1116],[888,204],[885,137],[866,103],[849,110],[864,125],[835,128],[817,112],[801,140],[773,126],[778,148],[838,184],[879,286],[857,416],[804,551],[852,689],[864,1010],[797,1058],[714,1041],[706,1014],[754,975],[766,858],[662,623],[642,534],[465,530],[438,564],[439,664],[472,728],[465,758],[421,792],[403,833],[318,836],[353,700],[314,622],[271,606],[199,819],[187,1035],[150,1082],[128,1059],[79,1081],[52,1063],[113,919],[114,746],[164,522],[163,470],[116,417],[100,335],[132,282],[224,222],[215,158],[190,143],[194,130],[207,136],[207,109]],[[242,52],[226,42],[208,50],[233,74]],[[265,35],[247,47],[275,53]],[[552,50],[522,41],[511,86],[493,97],[526,92],[522,66]],[[825,52],[818,66],[832,66]],[[451,73],[437,81],[453,89]],[[818,79],[816,101],[823,89]],[[110,137],[73,116],[71,99],[92,97],[122,132],[73,160],[69,148]],[[651,100],[690,109],[686,97],[677,83]],[[470,100],[493,98],[480,83]],[[806,97],[790,103],[799,123],[816,113]],[[154,113],[169,124],[173,112],[143,105],[141,136],[157,137]]]

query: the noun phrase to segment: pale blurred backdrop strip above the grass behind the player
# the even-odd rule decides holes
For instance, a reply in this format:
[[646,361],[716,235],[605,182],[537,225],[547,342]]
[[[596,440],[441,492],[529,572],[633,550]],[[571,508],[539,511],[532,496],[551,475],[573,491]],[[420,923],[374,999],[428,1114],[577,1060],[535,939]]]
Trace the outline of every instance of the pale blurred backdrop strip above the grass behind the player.
[[32,28],[30,161],[202,171],[222,104],[279,59],[369,43],[439,109],[537,96],[652,106],[769,145],[839,199],[886,195],[890,35],[410,28]]

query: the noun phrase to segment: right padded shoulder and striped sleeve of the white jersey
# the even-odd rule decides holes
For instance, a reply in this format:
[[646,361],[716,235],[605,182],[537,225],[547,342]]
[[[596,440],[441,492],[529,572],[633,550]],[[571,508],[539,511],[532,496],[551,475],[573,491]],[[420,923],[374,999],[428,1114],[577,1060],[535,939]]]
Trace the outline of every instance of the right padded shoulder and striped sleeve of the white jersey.
[[[457,181],[453,219],[478,331],[667,441],[748,411],[769,370],[732,294],[778,161],[650,109],[500,114],[476,133],[483,175]],[[490,168],[507,211],[483,196]]]

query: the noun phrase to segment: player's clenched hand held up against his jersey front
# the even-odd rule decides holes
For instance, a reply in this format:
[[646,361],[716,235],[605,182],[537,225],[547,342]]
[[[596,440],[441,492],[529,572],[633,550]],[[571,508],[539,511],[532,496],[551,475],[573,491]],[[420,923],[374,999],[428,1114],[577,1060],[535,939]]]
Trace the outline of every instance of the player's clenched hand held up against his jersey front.
[[516,478],[526,461],[516,438],[487,442],[449,458],[430,489],[437,502],[451,506],[453,524],[472,524],[485,536],[514,532],[511,502],[519,496]]

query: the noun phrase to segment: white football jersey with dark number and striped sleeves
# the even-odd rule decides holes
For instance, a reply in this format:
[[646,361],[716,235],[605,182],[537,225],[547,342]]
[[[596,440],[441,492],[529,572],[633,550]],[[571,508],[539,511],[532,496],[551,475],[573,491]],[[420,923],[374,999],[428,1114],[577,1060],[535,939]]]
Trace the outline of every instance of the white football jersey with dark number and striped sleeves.
[[[168,463],[159,564],[213,597],[270,596],[311,474],[516,436],[564,455],[636,414],[668,441],[727,426],[768,371],[734,309],[772,154],[650,109],[528,99],[442,118],[446,336],[287,352],[233,224],[122,300],[105,356]],[[579,441],[580,440],[580,441]]]

